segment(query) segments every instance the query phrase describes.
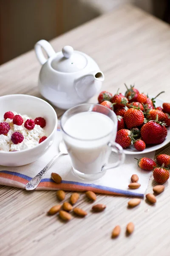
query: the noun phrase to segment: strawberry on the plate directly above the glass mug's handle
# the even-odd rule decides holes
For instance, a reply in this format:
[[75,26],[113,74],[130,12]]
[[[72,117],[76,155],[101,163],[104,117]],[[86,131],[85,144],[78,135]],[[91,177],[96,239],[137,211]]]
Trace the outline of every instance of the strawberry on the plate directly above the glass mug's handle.
[[127,129],[119,130],[116,134],[116,143],[122,146],[122,148],[127,148],[132,143],[131,132]]

